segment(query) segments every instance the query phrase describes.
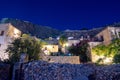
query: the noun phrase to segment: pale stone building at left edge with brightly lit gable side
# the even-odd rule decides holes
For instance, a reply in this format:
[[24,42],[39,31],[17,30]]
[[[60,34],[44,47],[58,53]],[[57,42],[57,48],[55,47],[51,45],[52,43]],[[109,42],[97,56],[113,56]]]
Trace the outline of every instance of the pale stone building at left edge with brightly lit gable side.
[[15,28],[10,23],[0,24],[0,59],[4,60],[8,58],[8,54],[5,52],[9,43],[15,38],[21,36],[21,31]]

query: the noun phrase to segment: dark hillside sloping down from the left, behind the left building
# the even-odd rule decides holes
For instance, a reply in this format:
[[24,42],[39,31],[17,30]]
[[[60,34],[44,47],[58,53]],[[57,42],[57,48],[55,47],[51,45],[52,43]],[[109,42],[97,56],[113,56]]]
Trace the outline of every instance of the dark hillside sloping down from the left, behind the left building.
[[41,39],[57,37],[60,34],[60,31],[51,27],[36,25],[31,22],[19,19],[3,18],[0,22],[11,23],[13,26],[20,29],[23,33],[27,33]]

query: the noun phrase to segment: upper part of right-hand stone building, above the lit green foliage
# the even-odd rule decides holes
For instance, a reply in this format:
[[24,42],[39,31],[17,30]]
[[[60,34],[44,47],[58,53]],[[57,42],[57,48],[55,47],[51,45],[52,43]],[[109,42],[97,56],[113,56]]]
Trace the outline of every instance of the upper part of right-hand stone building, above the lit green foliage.
[[108,45],[112,40],[120,38],[120,27],[107,26],[101,32],[96,34],[95,37],[98,39],[101,38],[103,40],[103,44]]

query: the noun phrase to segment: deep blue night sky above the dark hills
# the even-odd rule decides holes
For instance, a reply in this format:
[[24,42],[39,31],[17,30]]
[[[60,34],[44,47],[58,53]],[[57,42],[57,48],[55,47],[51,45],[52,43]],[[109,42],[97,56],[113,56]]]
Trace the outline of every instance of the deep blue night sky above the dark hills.
[[57,29],[94,28],[120,21],[120,0],[0,0],[0,18]]

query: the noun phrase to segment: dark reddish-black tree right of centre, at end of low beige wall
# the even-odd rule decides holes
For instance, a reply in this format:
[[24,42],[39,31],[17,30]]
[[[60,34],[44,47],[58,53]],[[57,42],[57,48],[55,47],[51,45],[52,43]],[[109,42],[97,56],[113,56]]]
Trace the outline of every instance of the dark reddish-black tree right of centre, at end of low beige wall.
[[72,45],[71,47],[69,47],[68,50],[73,55],[80,56],[81,62],[87,62],[87,61],[90,61],[88,47],[89,47],[88,41],[83,40],[76,45]]

